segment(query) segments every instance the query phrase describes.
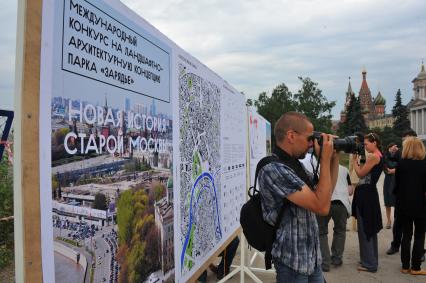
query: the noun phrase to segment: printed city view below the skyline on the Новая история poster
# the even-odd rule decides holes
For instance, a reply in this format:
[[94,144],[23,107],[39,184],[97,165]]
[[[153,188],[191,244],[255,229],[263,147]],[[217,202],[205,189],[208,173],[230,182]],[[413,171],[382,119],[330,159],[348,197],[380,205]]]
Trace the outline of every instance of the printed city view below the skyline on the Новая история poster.
[[174,281],[171,115],[123,102],[52,98],[57,282]]

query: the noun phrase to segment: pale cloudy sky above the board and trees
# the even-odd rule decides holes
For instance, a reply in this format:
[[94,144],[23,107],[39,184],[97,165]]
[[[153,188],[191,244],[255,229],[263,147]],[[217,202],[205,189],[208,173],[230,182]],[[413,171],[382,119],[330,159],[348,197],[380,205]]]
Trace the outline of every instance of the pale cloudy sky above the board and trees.
[[[0,11],[0,106],[11,107],[16,1]],[[343,107],[350,76],[358,93],[361,70],[389,113],[398,88],[412,97],[411,80],[426,59],[424,0],[123,0],[180,47],[248,98],[298,76],[310,77]]]

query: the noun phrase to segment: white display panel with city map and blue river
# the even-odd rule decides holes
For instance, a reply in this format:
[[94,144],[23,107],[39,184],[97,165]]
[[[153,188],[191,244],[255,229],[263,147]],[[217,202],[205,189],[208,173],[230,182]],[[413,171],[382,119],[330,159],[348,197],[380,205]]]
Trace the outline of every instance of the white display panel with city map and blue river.
[[239,227],[247,130],[243,95],[188,54],[176,69],[176,272],[186,282]]

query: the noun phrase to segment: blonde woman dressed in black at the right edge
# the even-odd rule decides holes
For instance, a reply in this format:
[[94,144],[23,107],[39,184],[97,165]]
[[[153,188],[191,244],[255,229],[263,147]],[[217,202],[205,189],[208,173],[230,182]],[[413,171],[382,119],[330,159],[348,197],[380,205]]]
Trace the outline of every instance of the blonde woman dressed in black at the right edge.
[[[417,137],[408,137],[402,143],[402,156],[395,172],[396,211],[402,228],[402,273],[426,275],[421,270],[426,221],[426,150]],[[413,252],[411,238],[413,236]],[[411,269],[410,269],[411,259]]]

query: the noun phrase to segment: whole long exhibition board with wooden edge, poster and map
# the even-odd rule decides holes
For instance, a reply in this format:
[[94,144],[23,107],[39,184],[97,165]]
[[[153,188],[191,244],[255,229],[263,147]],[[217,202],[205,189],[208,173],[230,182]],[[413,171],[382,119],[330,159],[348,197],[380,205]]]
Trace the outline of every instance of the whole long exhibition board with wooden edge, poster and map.
[[[23,276],[194,281],[238,232],[244,95],[119,1],[45,0],[21,9],[26,20],[39,20],[23,24],[40,54],[37,64],[22,62],[36,71],[24,76],[17,99],[37,114],[38,137],[37,153],[23,148],[18,161],[25,169],[25,158],[34,158],[34,178],[15,177],[37,191],[31,201],[23,192],[19,206],[33,209],[37,221],[18,234],[38,227],[40,243],[30,264],[37,272],[24,268]],[[38,89],[25,89],[28,78]],[[17,135],[22,141],[24,129]],[[22,241],[18,252],[26,255],[30,239]]]

